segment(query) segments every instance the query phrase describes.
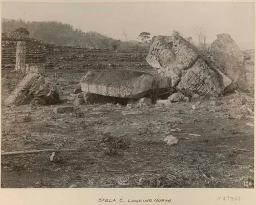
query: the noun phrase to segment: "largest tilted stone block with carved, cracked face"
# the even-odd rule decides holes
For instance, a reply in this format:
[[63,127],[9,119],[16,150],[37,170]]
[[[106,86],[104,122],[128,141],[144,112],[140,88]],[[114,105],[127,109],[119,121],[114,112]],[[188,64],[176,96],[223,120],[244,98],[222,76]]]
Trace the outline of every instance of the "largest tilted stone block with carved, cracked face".
[[178,34],[155,36],[146,61],[186,95],[218,96],[231,80]]

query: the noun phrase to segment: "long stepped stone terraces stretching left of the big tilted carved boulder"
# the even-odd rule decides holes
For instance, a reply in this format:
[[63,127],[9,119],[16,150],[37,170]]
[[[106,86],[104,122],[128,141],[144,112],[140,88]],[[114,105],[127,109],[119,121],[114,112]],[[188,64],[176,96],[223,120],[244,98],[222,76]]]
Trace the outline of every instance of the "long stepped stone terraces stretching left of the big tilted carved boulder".
[[46,69],[151,69],[147,49],[85,49],[46,44],[12,33],[2,33],[2,69],[14,69],[18,41],[26,42],[26,64],[45,63]]

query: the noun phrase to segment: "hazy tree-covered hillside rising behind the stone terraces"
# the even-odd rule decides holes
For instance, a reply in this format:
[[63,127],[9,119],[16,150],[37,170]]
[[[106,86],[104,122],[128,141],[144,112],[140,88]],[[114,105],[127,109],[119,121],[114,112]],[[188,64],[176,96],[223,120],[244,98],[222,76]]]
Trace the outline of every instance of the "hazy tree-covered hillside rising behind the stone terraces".
[[2,19],[2,31],[12,32],[18,28],[26,28],[29,37],[46,43],[80,46],[83,48],[108,48],[108,49],[139,49],[145,45],[139,45],[135,41],[120,41],[97,32],[83,32],[74,29],[72,25],[57,21],[24,21]]

